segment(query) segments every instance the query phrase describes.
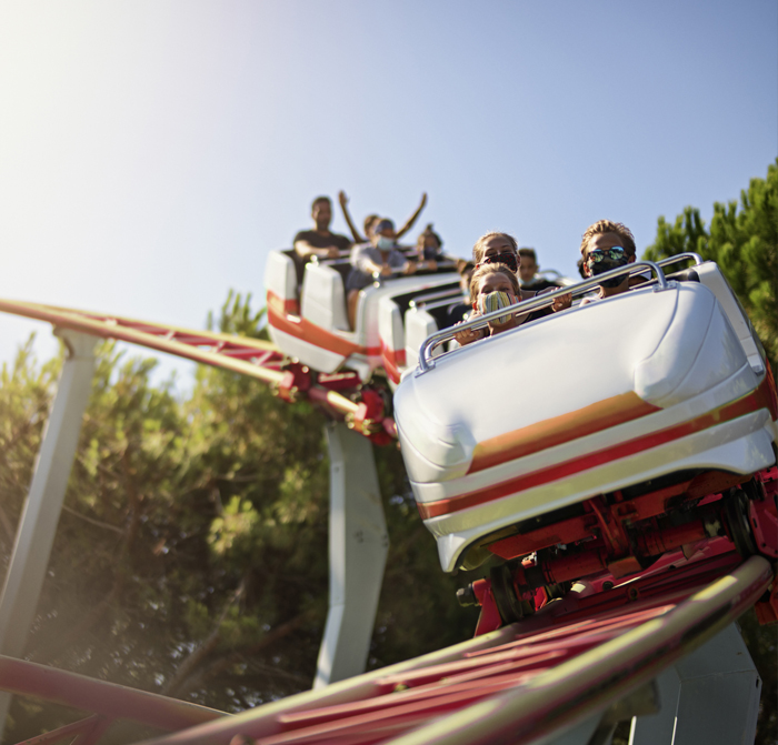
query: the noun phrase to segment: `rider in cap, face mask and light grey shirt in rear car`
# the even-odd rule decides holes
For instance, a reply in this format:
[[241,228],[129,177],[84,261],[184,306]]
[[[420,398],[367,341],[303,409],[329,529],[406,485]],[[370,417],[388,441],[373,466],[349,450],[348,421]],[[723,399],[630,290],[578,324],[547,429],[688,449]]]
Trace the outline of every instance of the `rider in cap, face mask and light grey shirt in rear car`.
[[408,261],[397,248],[395,223],[386,218],[376,223],[370,243],[353,246],[351,266],[346,280],[346,292],[352,329],[357,326],[359,291],[372,283],[373,274],[391,276],[395,273],[412,274],[416,271],[416,264]]

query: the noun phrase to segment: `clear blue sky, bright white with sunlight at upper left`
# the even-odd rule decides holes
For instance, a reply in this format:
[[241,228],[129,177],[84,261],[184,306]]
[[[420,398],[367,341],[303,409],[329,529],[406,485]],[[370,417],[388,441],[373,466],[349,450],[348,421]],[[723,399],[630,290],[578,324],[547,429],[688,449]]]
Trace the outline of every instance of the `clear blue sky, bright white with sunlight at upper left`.
[[[777,155],[775,0],[0,3],[6,299],[203,328],[341,189],[360,224],[427,192],[412,236],[502,230],[575,275],[590,223],[642,250]],[[50,356],[1,315],[0,362],[32,331]]]

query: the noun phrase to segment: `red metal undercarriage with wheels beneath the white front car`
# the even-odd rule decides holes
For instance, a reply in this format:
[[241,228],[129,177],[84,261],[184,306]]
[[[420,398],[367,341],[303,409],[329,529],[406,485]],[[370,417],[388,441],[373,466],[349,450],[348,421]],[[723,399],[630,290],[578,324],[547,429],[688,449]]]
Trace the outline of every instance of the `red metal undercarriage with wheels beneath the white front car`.
[[[509,561],[460,590],[459,598],[481,606],[478,636],[533,613],[573,580],[597,592],[622,577],[727,552],[775,561],[777,495],[778,469],[771,467],[754,477],[707,472],[631,499],[597,496],[582,504],[582,514],[490,544]],[[756,612],[762,624],[778,622],[778,583]]]

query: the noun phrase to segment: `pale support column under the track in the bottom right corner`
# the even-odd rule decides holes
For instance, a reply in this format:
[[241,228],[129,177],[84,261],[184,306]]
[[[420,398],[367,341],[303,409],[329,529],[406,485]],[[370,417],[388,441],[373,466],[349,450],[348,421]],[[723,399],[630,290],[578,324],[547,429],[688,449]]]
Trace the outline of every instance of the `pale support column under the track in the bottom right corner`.
[[735,625],[657,677],[660,711],[632,719],[630,745],[752,743],[761,679]]

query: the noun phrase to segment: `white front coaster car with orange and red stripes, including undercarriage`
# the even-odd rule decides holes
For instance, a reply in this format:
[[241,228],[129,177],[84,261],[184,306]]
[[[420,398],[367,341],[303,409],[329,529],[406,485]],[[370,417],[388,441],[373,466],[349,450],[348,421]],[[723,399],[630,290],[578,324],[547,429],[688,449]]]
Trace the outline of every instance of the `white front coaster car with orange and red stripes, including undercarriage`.
[[516,590],[509,616],[539,587],[628,576],[717,536],[778,555],[778,404],[764,349],[715,263],[681,254],[609,275],[647,270],[656,279],[626,293],[437,358],[451,332],[433,334],[395,393],[442,568],[506,560],[491,584]]

